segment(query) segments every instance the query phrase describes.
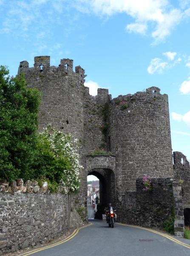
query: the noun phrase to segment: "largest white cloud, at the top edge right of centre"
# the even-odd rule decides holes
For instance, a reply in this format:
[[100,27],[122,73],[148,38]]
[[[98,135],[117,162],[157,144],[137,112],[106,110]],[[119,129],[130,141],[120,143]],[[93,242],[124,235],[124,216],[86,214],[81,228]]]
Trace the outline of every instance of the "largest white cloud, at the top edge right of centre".
[[170,35],[181,19],[187,16],[187,10],[181,6],[174,8],[168,0],[75,0],[75,3],[79,11],[82,11],[82,6],[83,12],[94,12],[99,16],[130,15],[135,22],[128,24],[126,30],[145,34],[147,25],[150,25],[155,43]]

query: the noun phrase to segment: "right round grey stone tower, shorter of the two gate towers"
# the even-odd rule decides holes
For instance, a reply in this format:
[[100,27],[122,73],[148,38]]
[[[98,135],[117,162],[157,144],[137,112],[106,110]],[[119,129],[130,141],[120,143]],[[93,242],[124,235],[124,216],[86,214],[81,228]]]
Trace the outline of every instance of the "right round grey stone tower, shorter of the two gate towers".
[[135,190],[136,177],[173,177],[170,119],[167,95],[159,88],[118,96],[111,102],[111,151],[117,157],[124,195]]

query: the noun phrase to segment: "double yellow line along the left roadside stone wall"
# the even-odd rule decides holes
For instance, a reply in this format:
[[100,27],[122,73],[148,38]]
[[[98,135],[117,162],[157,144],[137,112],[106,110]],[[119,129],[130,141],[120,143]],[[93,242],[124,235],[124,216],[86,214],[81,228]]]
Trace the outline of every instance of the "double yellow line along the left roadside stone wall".
[[[92,223],[90,222],[88,225],[86,225],[84,227],[88,227],[88,226],[91,226],[91,225],[92,225]],[[42,248],[39,248],[39,249],[32,250],[32,251],[30,251],[28,253],[19,254],[19,256],[28,256],[28,255],[31,255],[33,253],[37,253],[37,252],[40,252],[42,250],[46,250],[48,248],[51,248],[51,247],[63,244],[65,242],[71,240],[72,238],[74,238],[74,236],[76,236],[79,233],[79,230],[81,230],[84,227],[77,228],[76,230],[74,230],[74,232],[70,236],[68,236],[67,238],[63,239],[62,241],[59,241],[57,243],[54,243],[54,244],[51,244],[51,245],[48,245],[48,246],[45,246],[45,247],[42,247]]]

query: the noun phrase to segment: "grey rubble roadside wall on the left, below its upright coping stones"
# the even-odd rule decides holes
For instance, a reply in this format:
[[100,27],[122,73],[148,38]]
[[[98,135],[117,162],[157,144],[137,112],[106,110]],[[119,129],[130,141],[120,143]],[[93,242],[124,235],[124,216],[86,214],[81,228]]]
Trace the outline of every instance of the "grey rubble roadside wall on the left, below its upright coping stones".
[[65,234],[70,210],[68,194],[0,193],[0,255]]

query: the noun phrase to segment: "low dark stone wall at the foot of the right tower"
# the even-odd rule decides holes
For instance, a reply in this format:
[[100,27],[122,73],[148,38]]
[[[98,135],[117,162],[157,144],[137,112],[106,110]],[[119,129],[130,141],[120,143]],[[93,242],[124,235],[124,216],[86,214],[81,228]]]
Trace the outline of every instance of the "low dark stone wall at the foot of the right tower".
[[162,228],[173,208],[170,178],[152,178],[152,191],[143,191],[142,178],[136,180],[136,192],[126,192],[120,203],[119,221],[143,227]]

